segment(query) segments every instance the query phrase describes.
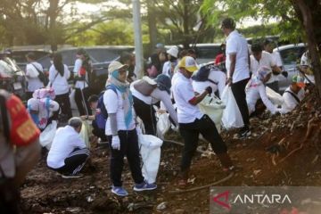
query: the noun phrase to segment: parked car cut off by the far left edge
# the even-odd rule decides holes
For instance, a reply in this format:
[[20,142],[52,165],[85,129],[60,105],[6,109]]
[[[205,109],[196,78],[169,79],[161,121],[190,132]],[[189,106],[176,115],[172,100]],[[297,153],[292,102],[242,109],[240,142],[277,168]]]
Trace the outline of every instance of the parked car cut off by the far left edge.
[[24,72],[11,58],[0,55],[0,88],[25,101],[27,81]]

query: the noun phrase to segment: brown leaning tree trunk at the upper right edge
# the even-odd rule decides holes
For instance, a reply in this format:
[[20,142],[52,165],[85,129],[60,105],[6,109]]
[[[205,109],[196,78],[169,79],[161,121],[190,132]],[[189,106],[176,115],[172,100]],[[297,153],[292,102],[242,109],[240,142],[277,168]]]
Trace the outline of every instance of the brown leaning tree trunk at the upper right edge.
[[294,3],[297,4],[302,15],[303,26],[308,38],[309,54],[311,56],[313,72],[316,79],[317,91],[319,98],[321,98],[321,63],[320,55],[317,51],[317,38],[315,34],[316,29],[313,24],[312,12],[308,6],[308,3],[305,0],[294,0]]

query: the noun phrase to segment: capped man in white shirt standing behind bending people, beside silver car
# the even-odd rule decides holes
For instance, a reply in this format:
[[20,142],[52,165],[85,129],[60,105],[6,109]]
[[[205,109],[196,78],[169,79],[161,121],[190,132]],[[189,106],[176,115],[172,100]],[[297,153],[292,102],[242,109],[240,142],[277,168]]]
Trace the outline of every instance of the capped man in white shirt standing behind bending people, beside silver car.
[[[283,63],[281,60],[281,56],[279,52],[273,52],[275,45],[274,45],[274,41],[272,39],[266,39],[264,41],[264,50],[268,53],[271,53],[272,56],[272,60],[275,62],[276,66],[280,69],[283,70]],[[282,74],[284,75],[284,77],[287,77],[287,72],[282,72]],[[279,76],[280,73],[276,70],[273,70],[273,74],[272,77],[268,80],[267,82],[267,86],[269,88],[271,88],[272,90],[274,90],[276,93],[279,93],[279,86],[278,86],[278,81],[279,81]]]

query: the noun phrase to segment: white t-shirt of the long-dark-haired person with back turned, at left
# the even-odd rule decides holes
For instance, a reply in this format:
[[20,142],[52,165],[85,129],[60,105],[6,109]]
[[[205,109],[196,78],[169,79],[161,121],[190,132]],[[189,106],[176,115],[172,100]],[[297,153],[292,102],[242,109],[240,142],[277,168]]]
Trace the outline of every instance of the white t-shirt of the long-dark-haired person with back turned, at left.
[[64,95],[69,92],[69,84],[67,79],[70,78],[70,70],[65,64],[63,67],[63,77],[58,73],[58,70],[54,68],[54,65],[52,65],[49,69],[49,81],[53,83],[55,95]]

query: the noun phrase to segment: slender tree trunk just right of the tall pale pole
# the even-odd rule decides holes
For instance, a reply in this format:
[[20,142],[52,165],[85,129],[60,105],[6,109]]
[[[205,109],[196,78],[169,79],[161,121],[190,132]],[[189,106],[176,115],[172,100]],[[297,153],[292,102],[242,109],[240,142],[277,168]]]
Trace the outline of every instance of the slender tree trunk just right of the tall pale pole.
[[157,27],[156,16],[153,5],[153,0],[147,0],[147,19],[148,19],[148,31],[150,37],[150,53],[153,52],[155,45],[157,44]]

